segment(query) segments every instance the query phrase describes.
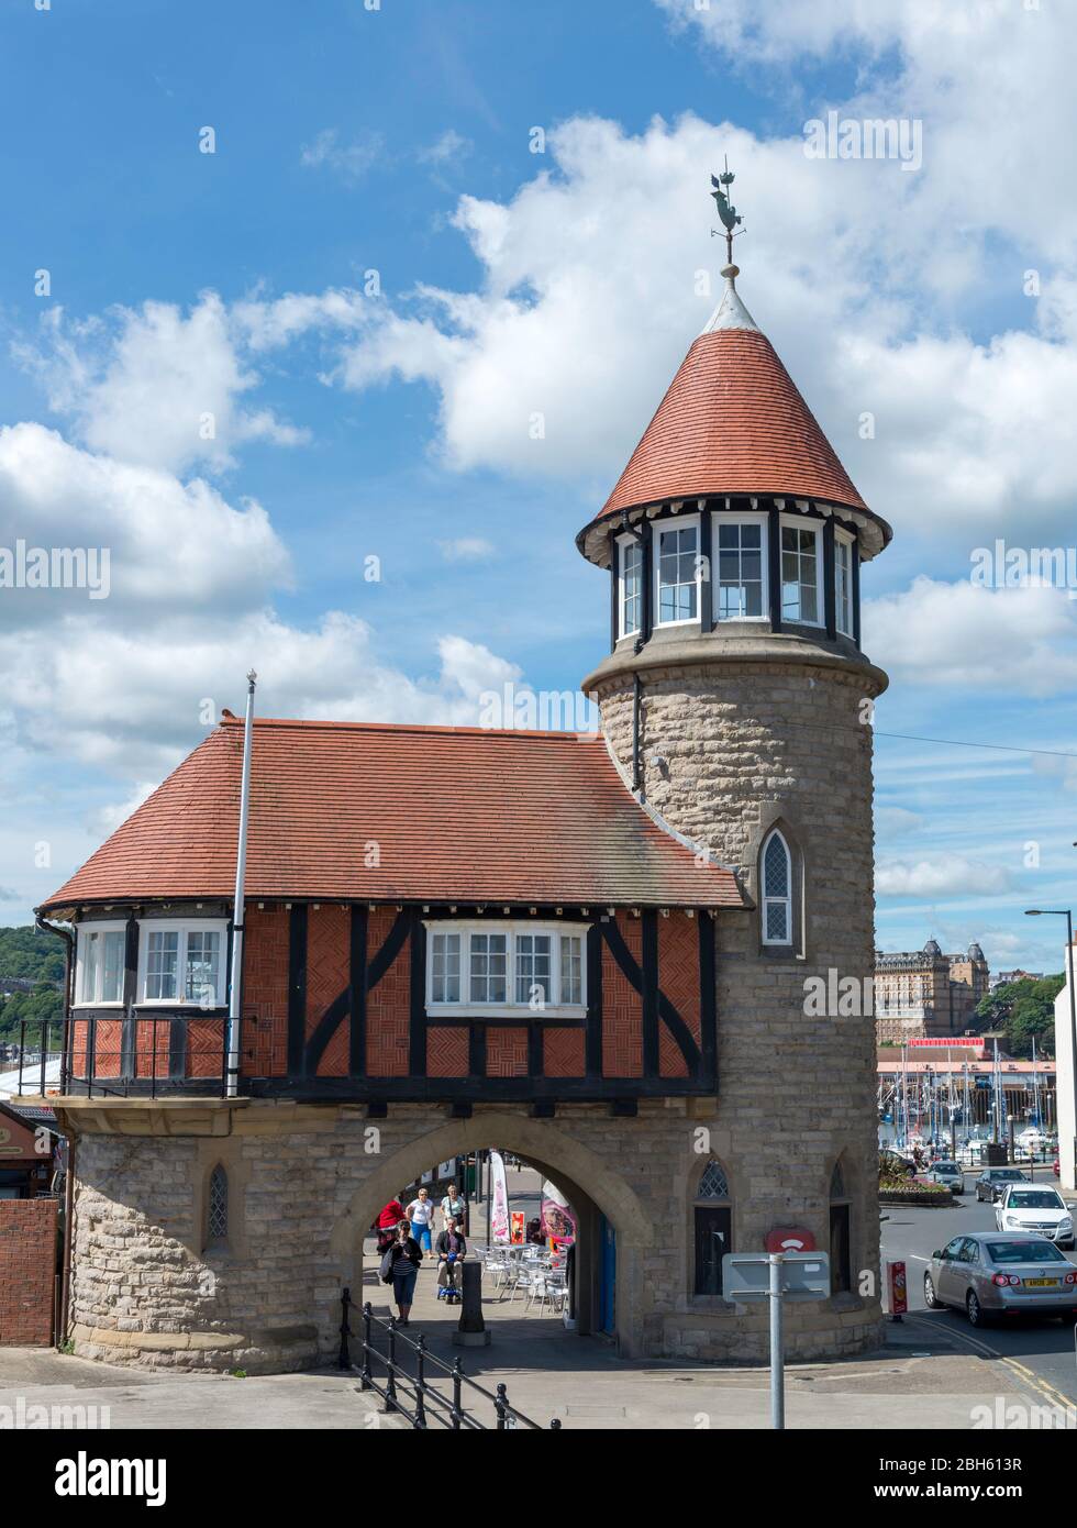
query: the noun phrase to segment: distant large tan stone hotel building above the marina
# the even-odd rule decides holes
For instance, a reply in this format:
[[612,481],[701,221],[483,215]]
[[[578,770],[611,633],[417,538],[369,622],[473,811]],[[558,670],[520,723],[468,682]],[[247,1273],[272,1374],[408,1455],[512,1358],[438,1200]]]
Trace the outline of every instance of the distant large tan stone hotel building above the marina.
[[944,955],[935,940],[897,955],[875,950],[875,1036],[880,1045],[962,1034],[988,992],[979,944],[967,955]]

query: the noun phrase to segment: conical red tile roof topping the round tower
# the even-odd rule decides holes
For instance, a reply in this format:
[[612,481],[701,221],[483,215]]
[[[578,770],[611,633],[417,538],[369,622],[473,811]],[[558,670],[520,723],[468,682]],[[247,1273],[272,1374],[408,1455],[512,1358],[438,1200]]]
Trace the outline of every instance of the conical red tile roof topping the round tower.
[[866,509],[758,330],[700,335],[599,520],[703,494],[785,494]]

